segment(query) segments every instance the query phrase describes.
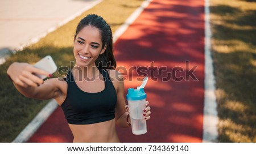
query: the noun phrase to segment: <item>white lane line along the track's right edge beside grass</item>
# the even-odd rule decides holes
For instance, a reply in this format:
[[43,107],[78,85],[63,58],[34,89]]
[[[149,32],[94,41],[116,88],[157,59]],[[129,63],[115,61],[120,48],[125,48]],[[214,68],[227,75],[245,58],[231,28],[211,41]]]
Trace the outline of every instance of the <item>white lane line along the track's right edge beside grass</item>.
[[205,79],[204,79],[204,119],[203,142],[217,142],[218,113],[215,95],[215,77],[213,75],[213,60],[210,53],[210,10],[209,0],[205,0]]

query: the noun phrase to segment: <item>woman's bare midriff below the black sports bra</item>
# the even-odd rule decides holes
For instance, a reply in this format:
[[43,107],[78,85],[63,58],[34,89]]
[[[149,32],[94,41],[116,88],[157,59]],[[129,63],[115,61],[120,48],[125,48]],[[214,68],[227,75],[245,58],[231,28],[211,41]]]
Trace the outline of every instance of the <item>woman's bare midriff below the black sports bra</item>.
[[68,125],[74,136],[73,142],[119,142],[115,119],[90,125]]

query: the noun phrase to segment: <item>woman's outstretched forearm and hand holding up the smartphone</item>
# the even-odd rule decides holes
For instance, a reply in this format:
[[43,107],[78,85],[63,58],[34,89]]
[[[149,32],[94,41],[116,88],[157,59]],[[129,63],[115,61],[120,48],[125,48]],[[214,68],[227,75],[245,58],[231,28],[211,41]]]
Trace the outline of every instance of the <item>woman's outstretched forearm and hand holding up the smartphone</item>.
[[7,69],[7,75],[22,95],[42,100],[55,98],[59,92],[55,83],[57,79],[43,81],[35,74],[51,76],[47,71],[37,69],[28,63],[15,62]]

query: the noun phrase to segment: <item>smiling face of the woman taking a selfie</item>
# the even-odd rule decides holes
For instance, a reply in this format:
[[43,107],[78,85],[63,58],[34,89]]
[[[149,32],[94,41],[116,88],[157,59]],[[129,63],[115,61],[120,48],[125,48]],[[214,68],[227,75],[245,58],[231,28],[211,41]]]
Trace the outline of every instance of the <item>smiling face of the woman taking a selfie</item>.
[[106,46],[102,49],[101,33],[90,25],[81,29],[74,41],[74,55],[76,66],[96,66],[98,55],[104,53]]

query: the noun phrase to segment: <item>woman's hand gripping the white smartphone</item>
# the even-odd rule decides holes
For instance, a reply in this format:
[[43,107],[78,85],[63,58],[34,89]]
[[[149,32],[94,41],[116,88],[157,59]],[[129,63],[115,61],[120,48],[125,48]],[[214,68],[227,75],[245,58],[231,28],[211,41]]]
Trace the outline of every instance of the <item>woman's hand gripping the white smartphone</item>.
[[47,71],[37,69],[28,63],[14,62],[7,70],[7,75],[13,80],[14,84],[24,88],[28,86],[38,87],[40,84],[43,84],[43,79],[40,79],[35,74],[52,76]]

